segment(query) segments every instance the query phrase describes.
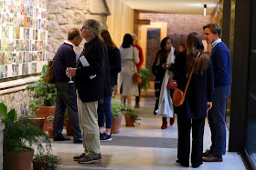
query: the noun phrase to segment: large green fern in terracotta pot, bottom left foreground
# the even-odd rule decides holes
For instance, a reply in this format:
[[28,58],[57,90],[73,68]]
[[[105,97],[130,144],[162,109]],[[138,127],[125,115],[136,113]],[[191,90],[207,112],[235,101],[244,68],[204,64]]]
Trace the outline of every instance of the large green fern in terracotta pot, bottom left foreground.
[[[30,170],[34,150],[50,149],[48,135],[27,117],[16,117],[15,109],[7,112],[5,104],[0,104],[4,115],[4,169]],[[45,144],[45,145],[42,145]]]

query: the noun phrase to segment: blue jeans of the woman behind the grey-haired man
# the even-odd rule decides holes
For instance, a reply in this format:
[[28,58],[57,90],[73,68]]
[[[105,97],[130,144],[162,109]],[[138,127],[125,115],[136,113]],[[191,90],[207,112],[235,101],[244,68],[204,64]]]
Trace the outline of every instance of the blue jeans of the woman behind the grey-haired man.
[[[113,91],[114,86],[112,86]],[[104,98],[104,102],[98,105],[98,124],[103,127],[106,117],[106,128],[112,128],[112,96]]]

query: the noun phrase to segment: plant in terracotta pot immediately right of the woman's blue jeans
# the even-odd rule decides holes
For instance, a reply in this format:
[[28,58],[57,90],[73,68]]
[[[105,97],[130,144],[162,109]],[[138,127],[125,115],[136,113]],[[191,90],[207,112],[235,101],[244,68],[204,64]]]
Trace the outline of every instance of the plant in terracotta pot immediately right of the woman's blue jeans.
[[112,99],[112,134],[120,132],[122,117],[123,117],[123,103],[118,97]]

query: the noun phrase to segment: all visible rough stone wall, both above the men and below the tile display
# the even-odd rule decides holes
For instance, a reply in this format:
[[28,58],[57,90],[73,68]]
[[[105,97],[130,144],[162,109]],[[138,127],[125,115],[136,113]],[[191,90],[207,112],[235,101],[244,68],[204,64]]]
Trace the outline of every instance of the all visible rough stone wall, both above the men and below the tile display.
[[[104,0],[49,0],[46,4],[49,58],[52,58],[59,45],[68,39],[69,29],[81,28],[84,20],[96,19],[100,22],[101,28],[107,28],[106,19],[110,12]],[[83,43],[76,50],[81,51]],[[34,95],[27,91],[26,86],[37,81],[38,76],[27,78],[27,81],[24,81],[25,79],[0,83],[0,103],[4,102],[9,109],[15,108],[18,116],[27,114]]]

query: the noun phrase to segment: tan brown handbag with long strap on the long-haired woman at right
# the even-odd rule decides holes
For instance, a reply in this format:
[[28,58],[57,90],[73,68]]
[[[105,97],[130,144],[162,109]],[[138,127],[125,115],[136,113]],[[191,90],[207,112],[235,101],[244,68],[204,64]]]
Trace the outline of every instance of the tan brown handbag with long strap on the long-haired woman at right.
[[[199,57],[199,55],[201,54],[201,52],[198,53],[197,55],[197,58]],[[184,100],[185,100],[185,95],[187,93],[187,87],[189,85],[189,82],[190,82],[190,79],[191,79],[191,76],[193,74],[193,71],[194,71],[194,67],[195,67],[195,64],[196,64],[196,61],[197,61],[197,58],[192,66],[192,69],[191,69],[191,73],[189,75],[189,78],[188,78],[188,81],[187,81],[187,86],[186,86],[186,89],[185,89],[185,92],[183,93],[182,90],[176,88],[175,92],[174,92],[174,95],[173,95],[173,104],[175,106],[180,106],[183,104]]]

